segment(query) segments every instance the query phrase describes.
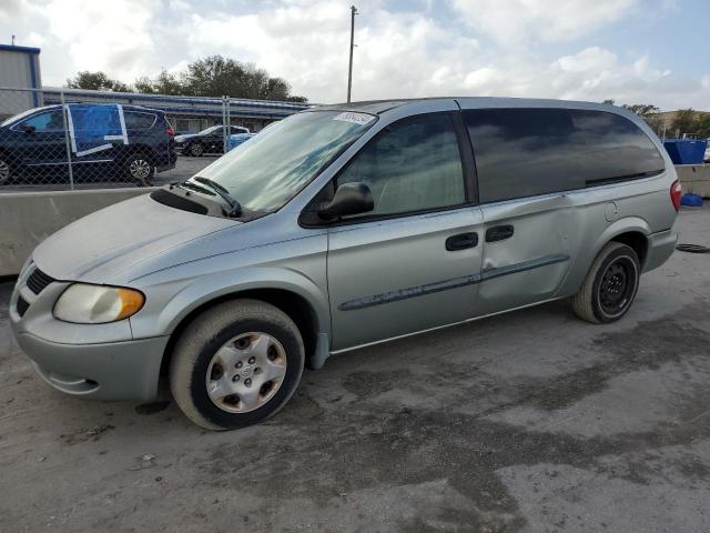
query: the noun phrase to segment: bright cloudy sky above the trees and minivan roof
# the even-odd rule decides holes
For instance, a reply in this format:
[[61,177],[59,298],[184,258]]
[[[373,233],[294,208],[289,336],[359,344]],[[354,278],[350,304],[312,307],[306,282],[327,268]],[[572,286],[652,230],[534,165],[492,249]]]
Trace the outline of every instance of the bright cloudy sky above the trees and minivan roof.
[[[0,0],[45,86],[221,53],[345,100],[352,0]],[[546,97],[710,110],[707,0],[356,0],[353,98]]]

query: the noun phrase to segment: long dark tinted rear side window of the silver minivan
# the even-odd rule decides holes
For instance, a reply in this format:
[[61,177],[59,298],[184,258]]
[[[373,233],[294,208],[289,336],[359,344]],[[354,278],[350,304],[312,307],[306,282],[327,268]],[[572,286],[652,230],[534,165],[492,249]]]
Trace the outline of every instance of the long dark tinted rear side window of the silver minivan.
[[481,202],[642,178],[665,167],[646,133],[615,113],[484,109],[464,117]]

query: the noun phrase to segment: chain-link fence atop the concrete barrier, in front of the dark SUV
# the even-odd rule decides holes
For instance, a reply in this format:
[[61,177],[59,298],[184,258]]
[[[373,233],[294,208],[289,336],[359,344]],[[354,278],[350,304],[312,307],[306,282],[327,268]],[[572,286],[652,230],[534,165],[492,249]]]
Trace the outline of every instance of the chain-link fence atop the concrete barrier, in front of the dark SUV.
[[231,135],[304,108],[229,97],[0,88],[0,193],[183,181],[227,151]]

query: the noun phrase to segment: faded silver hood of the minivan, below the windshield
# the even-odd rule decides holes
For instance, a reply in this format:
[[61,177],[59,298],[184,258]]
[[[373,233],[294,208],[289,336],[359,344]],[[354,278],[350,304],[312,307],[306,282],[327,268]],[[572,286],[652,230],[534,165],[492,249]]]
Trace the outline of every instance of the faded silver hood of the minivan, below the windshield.
[[163,205],[143,194],[72,222],[40,243],[32,258],[57,280],[106,283],[135,263],[237,224]]

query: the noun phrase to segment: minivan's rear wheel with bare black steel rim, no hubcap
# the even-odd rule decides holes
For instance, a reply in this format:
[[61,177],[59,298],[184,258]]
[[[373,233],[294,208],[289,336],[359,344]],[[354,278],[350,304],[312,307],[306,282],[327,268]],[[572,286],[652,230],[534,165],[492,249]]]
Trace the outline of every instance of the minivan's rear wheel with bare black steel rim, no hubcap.
[[641,263],[633,249],[608,242],[571,299],[575,314],[595,324],[616,322],[631,308],[640,275]]

